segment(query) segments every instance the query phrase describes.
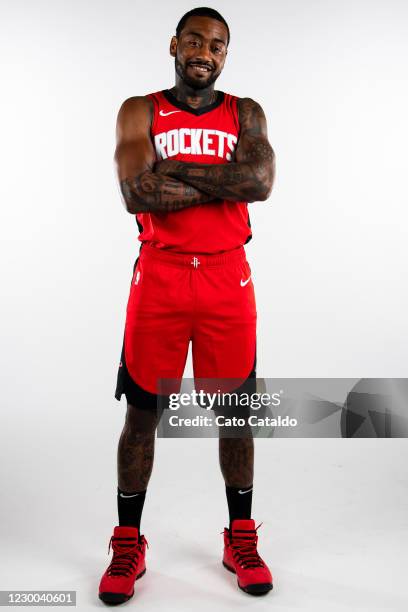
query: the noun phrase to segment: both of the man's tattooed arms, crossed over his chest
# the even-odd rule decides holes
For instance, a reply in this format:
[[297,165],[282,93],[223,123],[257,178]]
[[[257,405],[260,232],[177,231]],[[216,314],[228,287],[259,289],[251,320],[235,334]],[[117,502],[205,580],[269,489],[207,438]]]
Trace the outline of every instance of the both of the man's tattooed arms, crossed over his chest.
[[217,198],[254,202],[272,189],[275,160],[261,107],[249,98],[239,104],[241,134],[235,161],[195,164],[176,160],[155,163],[150,139],[151,102],[126,100],[118,115],[115,161],[129,213],[172,212]]

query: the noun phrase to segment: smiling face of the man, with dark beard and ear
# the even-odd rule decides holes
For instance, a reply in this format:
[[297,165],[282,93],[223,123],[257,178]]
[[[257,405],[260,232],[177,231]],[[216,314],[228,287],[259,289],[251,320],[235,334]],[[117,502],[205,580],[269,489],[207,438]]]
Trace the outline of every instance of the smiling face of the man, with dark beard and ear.
[[176,72],[193,89],[204,89],[220,76],[227,55],[227,28],[210,17],[189,17],[179,38],[173,36],[170,54]]

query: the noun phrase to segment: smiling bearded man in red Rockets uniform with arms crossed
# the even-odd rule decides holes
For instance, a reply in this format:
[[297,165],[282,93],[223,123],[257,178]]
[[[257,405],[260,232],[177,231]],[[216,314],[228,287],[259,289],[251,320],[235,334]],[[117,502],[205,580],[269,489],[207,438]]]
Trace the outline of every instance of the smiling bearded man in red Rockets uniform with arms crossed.
[[[159,379],[180,379],[190,340],[194,376],[255,377],[256,306],[243,245],[248,202],[266,200],[274,153],[264,113],[250,98],[214,90],[230,39],[224,18],[198,8],[170,43],[176,84],[120,108],[115,160],[141,241],[126,311],[115,397],[127,399],[118,448],[119,526],[99,597],[132,597],[145,569],[140,519],[153,466]],[[225,567],[250,594],[272,589],[251,518],[252,437],[219,440],[229,527]]]

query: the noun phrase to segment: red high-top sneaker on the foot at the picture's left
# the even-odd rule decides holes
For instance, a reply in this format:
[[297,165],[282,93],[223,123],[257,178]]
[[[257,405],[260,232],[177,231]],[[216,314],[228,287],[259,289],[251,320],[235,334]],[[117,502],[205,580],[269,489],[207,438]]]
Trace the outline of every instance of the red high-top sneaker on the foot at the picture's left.
[[107,604],[119,604],[133,596],[135,580],[146,572],[147,541],[139,536],[137,527],[115,527],[109,541],[113,557],[99,584],[99,599]]

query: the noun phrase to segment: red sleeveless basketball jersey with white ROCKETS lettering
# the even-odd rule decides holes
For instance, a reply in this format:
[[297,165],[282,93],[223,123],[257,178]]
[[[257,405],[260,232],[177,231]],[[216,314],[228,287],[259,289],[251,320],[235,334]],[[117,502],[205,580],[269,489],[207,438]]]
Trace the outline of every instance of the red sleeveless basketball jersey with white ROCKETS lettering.
[[[151,137],[157,160],[226,164],[234,159],[239,138],[237,97],[217,99],[193,109],[169,91],[148,94],[154,115]],[[179,253],[221,253],[251,239],[247,202],[207,202],[169,213],[139,213],[139,240]]]

